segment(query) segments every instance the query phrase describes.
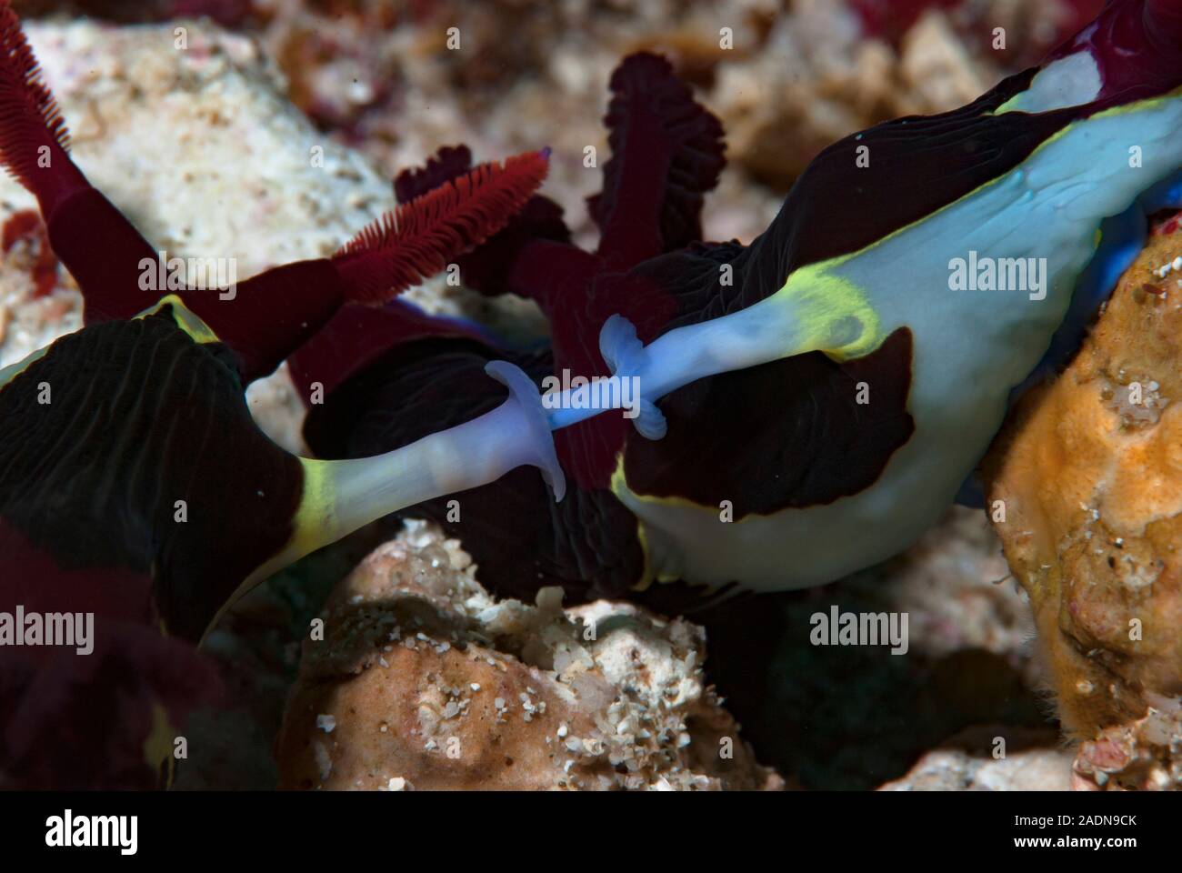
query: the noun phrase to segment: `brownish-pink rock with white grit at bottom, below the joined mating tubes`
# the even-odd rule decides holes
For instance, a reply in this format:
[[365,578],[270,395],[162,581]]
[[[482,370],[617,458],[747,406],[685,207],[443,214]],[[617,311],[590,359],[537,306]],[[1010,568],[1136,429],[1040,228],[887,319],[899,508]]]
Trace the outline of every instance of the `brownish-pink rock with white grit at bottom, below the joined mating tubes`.
[[[494,601],[414,524],[333,593],[279,739],[285,788],[779,788],[704,686],[701,628]],[[333,730],[323,725],[332,719]]]

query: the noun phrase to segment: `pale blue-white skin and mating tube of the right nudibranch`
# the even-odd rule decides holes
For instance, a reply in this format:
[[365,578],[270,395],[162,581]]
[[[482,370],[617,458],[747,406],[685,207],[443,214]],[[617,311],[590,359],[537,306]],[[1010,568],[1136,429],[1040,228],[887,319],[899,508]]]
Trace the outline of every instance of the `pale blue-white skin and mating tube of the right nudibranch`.
[[[1043,79],[1064,73],[1072,77],[1066,97],[1040,90]],[[1098,73],[1082,50],[1052,62],[998,111],[1069,114],[1078,104],[1064,99],[1097,101]],[[1182,56],[1175,76],[1182,84]],[[1076,86],[1080,79],[1084,88]],[[1182,206],[1180,129],[1182,95],[1174,91],[1071,121],[1015,168],[935,214],[851,254],[792,270],[779,291],[748,309],[656,340],[650,360],[629,373],[642,390],[654,384],[654,397],[667,386],[781,356],[864,357],[907,336],[914,432],[869,487],[806,511],[751,513],[721,530],[715,507],[649,499],[623,477],[617,494],[645,523],[654,564],[774,590],[831,581],[913,542],[952,502],[1001,426],[1011,390],[1043,358],[1097,239],[1113,245],[1102,224],[1132,209],[1143,232],[1147,214]],[[853,140],[868,144],[871,168],[876,138],[871,131]],[[994,271],[995,287],[959,283],[959,270],[980,278],[985,269]],[[1022,274],[1025,282],[1006,287]],[[671,375],[651,376],[663,361]],[[900,375],[868,374],[869,402],[879,402],[875,389]]]

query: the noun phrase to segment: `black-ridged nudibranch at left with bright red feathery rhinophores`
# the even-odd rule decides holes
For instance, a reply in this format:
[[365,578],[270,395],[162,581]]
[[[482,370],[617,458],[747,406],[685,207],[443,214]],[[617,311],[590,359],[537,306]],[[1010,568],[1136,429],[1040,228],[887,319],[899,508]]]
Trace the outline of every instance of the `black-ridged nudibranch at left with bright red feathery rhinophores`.
[[[561,496],[538,392],[506,362],[483,376],[494,408],[374,458],[288,454],[243,399],[343,303],[382,302],[504,227],[546,154],[482,164],[331,258],[232,289],[155,287],[157,253],[71,161],[0,2],[0,162],[35,195],[85,302],[80,331],[0,370],[0,782],[152,784],[170,731],[213,690],[193,644],[252,584],[521,464]],[[63,646],[51,630],[76,615],[92,635]]]

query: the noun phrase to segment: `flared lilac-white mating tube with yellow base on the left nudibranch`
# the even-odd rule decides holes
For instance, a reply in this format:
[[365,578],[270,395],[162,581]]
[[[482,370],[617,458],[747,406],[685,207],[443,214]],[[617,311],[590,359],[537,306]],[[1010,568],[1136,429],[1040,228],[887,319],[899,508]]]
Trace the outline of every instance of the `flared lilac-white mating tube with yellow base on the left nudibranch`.
[[554,500],[561,500],[566,481],[537,386],[505,361],[489,362],[485,371],[509,395],[479,418],[370,458],[301,459],[305,484],[296,535],[247,584],[370,522],[487,485],[520,466],[537,467]]

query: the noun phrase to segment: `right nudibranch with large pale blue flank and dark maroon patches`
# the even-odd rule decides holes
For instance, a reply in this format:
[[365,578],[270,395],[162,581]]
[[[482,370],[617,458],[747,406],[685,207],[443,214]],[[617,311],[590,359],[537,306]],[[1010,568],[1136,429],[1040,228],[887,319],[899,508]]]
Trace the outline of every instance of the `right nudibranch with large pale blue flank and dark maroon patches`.
[[[333,386],[305,436],[355,457],[462,421],[493,402],[474,376],[494,358],[539,386],[617,376],[638,397],[547,397],[561,504],[520,470],[460,496],[459,513],[416,510],[463,539],[485,584],[677,609],[832,581],[963,493],[1012,395],[1064,363],[1147,215],[1182,203],[1180,86],[1182,4],[1116,0],[969,105],[829,147],[742,246],[697,241],[719,123],[668,64],[632,56],[589,201],[597,250],[534,198],[461,260],[472,287],[535,300],[548,348],[346,306],[293,358],[299,381]],[[466,168],[450,150],[401,181],[421,193]],[[604,403],[630,403],[632,422]]]

